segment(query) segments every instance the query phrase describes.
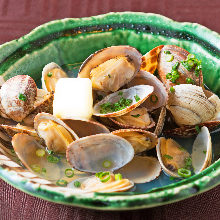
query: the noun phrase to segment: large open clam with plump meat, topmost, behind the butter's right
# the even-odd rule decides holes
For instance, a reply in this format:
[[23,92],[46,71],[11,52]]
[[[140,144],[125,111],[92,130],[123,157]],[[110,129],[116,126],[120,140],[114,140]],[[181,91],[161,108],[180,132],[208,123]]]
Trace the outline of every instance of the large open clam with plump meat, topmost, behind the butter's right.
[[130,46],[112,46],[90,55],[79,70],[79,78],[90,78],[95,90],[115,92],[140,69],[141,54]]

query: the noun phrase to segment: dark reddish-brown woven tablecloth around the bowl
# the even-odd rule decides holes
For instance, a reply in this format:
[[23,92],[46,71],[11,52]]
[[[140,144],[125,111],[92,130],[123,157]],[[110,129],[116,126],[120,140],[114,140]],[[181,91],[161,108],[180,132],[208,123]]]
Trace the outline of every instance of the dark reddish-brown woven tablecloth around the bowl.
[[[158,13],[177,21],[200,23],[220,32],[220,0],[0,0],[0,43],[18,38],[54,19],[112,11]],[[220,186],[161,207],[98,212],[34,198],[0,180],[0,220],[10,219],[220,219]]]

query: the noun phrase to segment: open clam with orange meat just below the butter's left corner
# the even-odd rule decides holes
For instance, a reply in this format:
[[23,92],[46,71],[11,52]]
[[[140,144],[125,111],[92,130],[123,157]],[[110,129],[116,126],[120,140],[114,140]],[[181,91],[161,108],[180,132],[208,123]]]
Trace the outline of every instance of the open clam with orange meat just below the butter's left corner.
[[67,146],[78,139],[69,126],[48,113],[39,113],[35,117],[34,128],[44,139],[47,148],[57,153],[65,153]]

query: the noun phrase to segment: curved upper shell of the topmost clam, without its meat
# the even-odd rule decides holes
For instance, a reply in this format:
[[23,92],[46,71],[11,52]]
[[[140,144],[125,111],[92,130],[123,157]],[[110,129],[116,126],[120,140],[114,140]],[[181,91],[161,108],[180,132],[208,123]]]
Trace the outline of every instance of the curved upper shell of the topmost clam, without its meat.
[[91,54],[80,67],[78,77],[90,78],[90,72],[94,67],[117,56],[128,56],[131,59],[136,69],[133,75],[134,77],[140,69],[142,55],[137,51],[136,48],[123,45],[107,47],[96,51],[94,54]]

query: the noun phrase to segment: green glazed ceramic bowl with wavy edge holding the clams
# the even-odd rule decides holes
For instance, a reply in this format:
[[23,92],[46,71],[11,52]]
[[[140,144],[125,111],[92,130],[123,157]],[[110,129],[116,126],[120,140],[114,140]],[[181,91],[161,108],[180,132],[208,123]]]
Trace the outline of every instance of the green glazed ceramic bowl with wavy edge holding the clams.
[[[36,81],[44,65],[56,62],[69,74],[91,53],[112,45],[131,45],[142,54],[161,44],[175,44],[196,54],[203,63],[206,85],[220,95],[220,35],[194,23],[179,23],[156,14],[109,13],[56,20],[0,46],[0,75],[7,80],[29,74]],[[69,65],[71,64],[71,65]],[[213,164],[200,174],[171,181],[164,174],[135,192],[74,195],[40,179],[11,161],[0,151],[0,177],[12,186],[49,201],[100,210],[128,210],[154,207],[189,198],[220,184],[220,137],[212,134]],[[192,140],[181,140],[189,145]]]

